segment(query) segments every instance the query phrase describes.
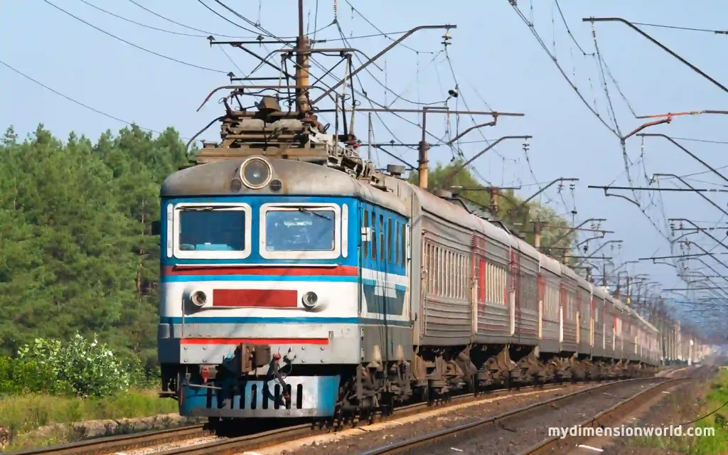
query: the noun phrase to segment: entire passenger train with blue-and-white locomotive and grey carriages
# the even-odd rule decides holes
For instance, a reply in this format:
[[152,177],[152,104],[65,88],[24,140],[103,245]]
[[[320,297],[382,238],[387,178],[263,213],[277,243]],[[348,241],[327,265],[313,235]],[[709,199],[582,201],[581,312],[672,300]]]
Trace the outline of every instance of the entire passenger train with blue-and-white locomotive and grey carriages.
[[608,289],[276,104],[229,110],[162,184],[161,393],[181,415],[330,419],[665,360]]

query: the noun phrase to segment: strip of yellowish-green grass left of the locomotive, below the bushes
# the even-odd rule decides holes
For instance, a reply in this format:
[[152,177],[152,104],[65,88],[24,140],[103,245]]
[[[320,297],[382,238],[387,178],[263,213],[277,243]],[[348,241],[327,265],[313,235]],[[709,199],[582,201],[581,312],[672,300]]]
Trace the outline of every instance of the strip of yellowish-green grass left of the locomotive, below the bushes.
[[[0,396],[0,427],[9,432],[9,450],[66,443],[82,436],[71,426],[47,427],[52,424],[133,419],[175,412],[177,402],[157,397],[155,390],[127,390],[103,398],[47,394]],[[41,430],[41,427],[46,428]]]

